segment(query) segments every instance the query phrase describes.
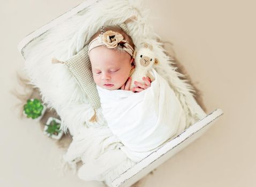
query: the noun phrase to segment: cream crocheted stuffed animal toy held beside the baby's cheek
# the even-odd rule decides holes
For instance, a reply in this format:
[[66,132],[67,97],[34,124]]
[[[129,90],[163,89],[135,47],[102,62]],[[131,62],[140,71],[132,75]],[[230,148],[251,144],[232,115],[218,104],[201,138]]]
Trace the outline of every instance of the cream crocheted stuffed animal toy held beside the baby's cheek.
[[142,77],[148,77],[150,81],[153,82],[155,79],[153,75],[149,73],[149,70],[153,68],[154,64],[159,64],[159,61],[155,58],[153,46],[147,43],[144,44],[144,47],[134,51],[133,58],[135,68],[133,68],[130,73],[132,78],[130,90],[136,87],[134,81],[141,82]]

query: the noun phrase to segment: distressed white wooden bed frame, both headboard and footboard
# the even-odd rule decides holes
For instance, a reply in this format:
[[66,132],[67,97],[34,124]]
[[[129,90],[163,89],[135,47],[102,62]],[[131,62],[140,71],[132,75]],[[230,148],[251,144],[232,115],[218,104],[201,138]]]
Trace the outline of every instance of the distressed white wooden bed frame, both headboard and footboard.
[[[70,11],[60,15],[48,24],[27,35],[23,40],[21,40],[18,45],[18,50],[20,51],[24,59],[24,50],[29,43],[40,37],[42,34],[46,33],[47,30],[56,26],[59,22],[62,22],[67,18],[72,17],[73,15],[86,9],[86,7],[92,5],[93,3],[96,3],[97,1],[99,0],[87,0],[86,2],[79,4]],[[199,138],[210,126],[212,126],[216,119],[219,118],[222,114],[222,110],[220,108],[217,108],[215,111],[208,114],[205,118],[199,120],[189,128],[185,129],[177,137],[160,147],[157,151],[151,153],[150,155],[148,155],[148,157],[141,160],[130,169],[127,169],[123,174],[119,175],[117,178],[115,178],[114,181],[112,181],[112,185],[125,187],[137,182],[138,180],[140,180],[140,178],[144,177],[153,169],[161,165],[163,162],[167,161],[178,151],[182,150],[185,146],[189,145],[195,139]]]

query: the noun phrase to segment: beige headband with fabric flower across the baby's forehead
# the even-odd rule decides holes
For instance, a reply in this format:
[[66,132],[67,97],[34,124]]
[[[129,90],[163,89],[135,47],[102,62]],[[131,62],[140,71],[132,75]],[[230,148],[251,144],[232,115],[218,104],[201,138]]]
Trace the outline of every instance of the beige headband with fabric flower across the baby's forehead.
[[97,48],[98,46],[107,46],[107,48],[110,49],[118,48],[129,53],[131,57],[134,51],[132,46],[124,40],[122,34],[112,30],[106,32],[104,26],[101,28],[101,34],[88,44],[88,54],[92,49]]

